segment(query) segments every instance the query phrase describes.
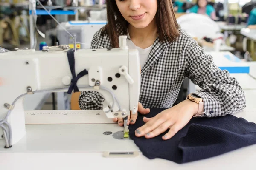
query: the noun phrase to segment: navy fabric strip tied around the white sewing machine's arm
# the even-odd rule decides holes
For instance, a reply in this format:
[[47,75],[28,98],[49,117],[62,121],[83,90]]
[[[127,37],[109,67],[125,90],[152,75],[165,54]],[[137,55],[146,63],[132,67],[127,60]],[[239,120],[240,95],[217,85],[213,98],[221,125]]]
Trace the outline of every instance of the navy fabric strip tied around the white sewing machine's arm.
[[83,77],[84,75],[87,75],[88,71],[86,69],[84,69],[76,76],[74,49],[70,49],[69,51],[67,51],[67,58],[68,58],[68,62],[70,65],[70,71],[71,71],[71,74],[73,77],[73,79],[71,79],[71,85],[67,91],[67,94],[71,94],[73,90],[74,90],[74,92],[79,91],[76,83],[81,77]]

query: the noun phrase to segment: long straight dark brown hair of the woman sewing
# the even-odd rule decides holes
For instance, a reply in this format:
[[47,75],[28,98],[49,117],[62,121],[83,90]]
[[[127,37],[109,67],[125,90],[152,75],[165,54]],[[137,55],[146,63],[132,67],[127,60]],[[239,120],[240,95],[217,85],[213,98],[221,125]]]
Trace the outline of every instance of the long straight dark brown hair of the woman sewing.
[[[128,22],[122,17],[115,0],[106,0],[107,5],[107,25],[102,34],[108,34],[112,48],[119,47],[118,37],[121,33],[127,34]],[[167,39],[174,42],[179,36],[179,26],[175,18],[172,0],[157,0],[157,31],[160,42]],[[121,25],[119,32],[116,31],[117,23]]]

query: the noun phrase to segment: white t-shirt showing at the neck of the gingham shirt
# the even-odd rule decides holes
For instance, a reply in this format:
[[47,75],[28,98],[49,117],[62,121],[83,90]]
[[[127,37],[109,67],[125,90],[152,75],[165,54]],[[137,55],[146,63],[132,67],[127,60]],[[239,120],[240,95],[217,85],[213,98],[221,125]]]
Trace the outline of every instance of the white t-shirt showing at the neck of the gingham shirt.
[[152,45],[148,48],[140,48],[140,47],[137,47],[131,40],[130,38],[130,35],[129,35],[129,32],[127,33],[127,46],[129,49],[137,49],[139,51],[139,55],[140,55],[140,67],[142,69],[143,65],[145,64],[145,62],[147,61],[148,59],[148,55],[151,51],[151,48],[152,48]]

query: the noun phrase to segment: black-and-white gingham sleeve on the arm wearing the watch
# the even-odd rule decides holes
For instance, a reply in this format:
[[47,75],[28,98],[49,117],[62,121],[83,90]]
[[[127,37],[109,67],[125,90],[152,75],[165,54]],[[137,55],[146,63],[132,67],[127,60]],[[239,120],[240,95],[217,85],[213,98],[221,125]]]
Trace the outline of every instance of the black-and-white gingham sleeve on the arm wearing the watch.
[[186,51],[186,76],[201,90],[196,95],[203,98],[207,117],[225,116],[246,107],[244,91],[227,70],[218,68],[212,56],[205,54],[195,40]]

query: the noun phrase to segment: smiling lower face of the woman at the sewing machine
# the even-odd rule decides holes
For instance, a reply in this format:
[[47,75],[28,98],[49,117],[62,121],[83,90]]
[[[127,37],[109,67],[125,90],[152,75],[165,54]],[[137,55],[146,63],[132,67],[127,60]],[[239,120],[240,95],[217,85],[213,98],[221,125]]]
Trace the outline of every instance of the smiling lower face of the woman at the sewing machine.
[[157,13],[157,0],[116,0],[116,5],[135,28],[147,27]]

